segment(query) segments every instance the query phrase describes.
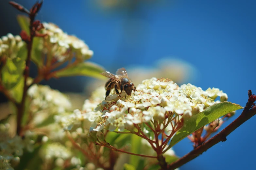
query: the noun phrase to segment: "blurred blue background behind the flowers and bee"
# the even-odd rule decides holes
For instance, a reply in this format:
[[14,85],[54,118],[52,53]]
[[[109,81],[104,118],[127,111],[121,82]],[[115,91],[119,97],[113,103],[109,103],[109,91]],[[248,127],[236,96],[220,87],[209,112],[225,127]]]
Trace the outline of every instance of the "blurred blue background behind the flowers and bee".
[[[16,2],[30,8],[36,1]],[[17,14],[8,0],[0,1],[0,36],[19,34]],[[44,0],[37,19],[84,40],[94,51],[90,61],[106,70],[115,73],[125,67],[135,85],[153,76],[171,78],[179,85],[219,88],[228,94],[228,101],[245,106],[247,91],[256,92],[255,16],[254,0]],[[31,76],[35,73],[33,68]],[[85,96],[104,83],[84,77],[42,82]],[[254,121],[256,117],[180,169],[254,169]],[[178,156],[192,149],[188,139],[174,147]]]

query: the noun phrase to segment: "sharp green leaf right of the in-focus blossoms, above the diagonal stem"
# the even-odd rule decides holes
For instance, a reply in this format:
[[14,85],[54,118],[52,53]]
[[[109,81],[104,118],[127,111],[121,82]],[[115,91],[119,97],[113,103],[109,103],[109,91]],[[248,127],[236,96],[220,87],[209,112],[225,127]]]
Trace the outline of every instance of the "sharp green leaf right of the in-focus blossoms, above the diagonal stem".
[[173,136],[168,148],[173,147],[180,140],[192,134],[201,127],[211,123],[225,114],[243,108],[231,102],[221,102],[207,107],[204,111],[192,116],[184,122],[183,127]]

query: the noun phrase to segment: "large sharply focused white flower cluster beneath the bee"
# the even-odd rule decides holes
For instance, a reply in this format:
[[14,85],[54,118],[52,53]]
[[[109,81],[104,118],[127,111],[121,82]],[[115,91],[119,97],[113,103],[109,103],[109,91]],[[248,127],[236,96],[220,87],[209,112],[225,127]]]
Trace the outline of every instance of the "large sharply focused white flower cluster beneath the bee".
[[217,96],[220,96],[221,101],[227,100],[227,94],[219,89],[209,88],[203,91],[191,84],[179,87],[165,78],[142,81],[137,86],[135,95],[126,98],[123,92],[121,97],[115,93],[104,100],[102,96],[105,91],[102,93],[97,100],[86,100],[83,111],[77,109],[69,117],[63,117],[62,125],[68,127],[74,122],[88,120],[94,131],[101,131],[103,128],[123,131],[132,129],[134,124],[163,121],[170,115],[179,117],[179,120],[189,119],[206,107],[220,102],[214,101]]

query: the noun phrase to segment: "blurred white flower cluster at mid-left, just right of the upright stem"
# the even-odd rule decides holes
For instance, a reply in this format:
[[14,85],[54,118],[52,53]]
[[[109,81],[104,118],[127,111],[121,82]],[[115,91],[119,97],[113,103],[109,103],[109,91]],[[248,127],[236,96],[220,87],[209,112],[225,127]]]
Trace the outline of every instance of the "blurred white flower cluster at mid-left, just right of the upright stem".
[[49,86],[34,84],[27,93],[31,97],[29,109],[34,114],[33,122],[35,124],[42,123],[50,114],[65,114],[71,109],[69,99]]

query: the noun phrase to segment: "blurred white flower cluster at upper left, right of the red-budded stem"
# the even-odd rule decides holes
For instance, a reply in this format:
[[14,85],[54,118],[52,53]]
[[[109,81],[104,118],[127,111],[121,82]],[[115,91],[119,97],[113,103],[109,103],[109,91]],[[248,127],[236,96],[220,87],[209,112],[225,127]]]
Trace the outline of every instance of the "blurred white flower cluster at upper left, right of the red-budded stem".
[[45,48],[45,52],[50,52],[57,58],[58,61],[64,61],[69,57],[69,50],[71,53],[76,53],[76,58],[83,61],[85,59],[89,59],[93,55],[93,51],[89,50],[87,44],[84,41],[78,39],[74,35],[68,35],[64,33],[57,25],[53,23],[43,22],[43,34],[47,34],[45,36],[46,42],[51,45],[51,51]]

